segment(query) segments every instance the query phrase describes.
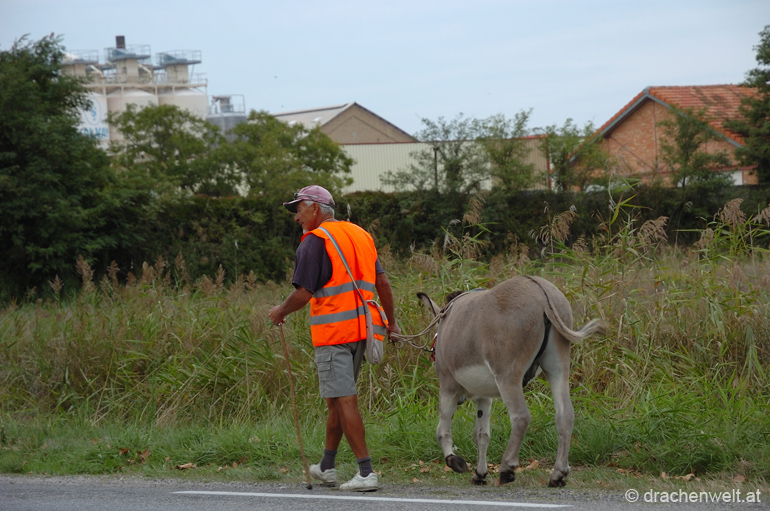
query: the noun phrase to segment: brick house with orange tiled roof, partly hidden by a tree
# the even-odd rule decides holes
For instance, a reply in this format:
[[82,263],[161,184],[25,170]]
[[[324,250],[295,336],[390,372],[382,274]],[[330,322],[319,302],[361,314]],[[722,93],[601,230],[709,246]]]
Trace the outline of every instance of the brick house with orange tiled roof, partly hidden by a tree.
[[[599,128],[597,134],[618,162],[619,175],[638,177],[643,182],[657,178],[671,184],[671,171],[662,161],[661,141],[665,135],[659,126],[661,121],[673,118],[670,109],[704,109],[709,125],[719,135],[719,140],[708,142],[705,150],[724,151],[735,161],[735,148],[743,144],[743,138],[723,123],[738,117],[741,99],[752,94],[753,89],[739,85],[648,87]],[[729,172],[737,185],[757,183],[751,167],[736,163],[721,171]]]

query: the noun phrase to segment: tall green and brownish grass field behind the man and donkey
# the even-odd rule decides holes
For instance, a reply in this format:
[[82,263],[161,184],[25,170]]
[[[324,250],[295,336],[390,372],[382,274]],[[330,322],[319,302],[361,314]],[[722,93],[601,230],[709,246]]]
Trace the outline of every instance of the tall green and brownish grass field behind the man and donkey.
[[[405,333],[430,320],[417,291],[441,301],[450,290],[517,274],[553,281],[571,301],[576,325],[594,317],[607,324],[605,336],[572,351],[573,481],[614,473],[611,484],[621,484],[666,472],[766,484],[768,232],[764,217],[729,218],[736,217],[722,215],[687,250],[652,236],[655,225],[622,223],[619,215],[592,240],[568,247],[549,238],[536,260],[516,249],[509,259],[484,261],[483,244],[469,236],[448,236],[442,250],[406,261],[387,248],[380,257]],[[225,284],[222,273],[189,285],[173,275],[158,261],[125,283],[87,280],[77,296],[31,295],[0,311],[0,472],[301,479],[281,337],[267,319],[290,285],[258,284],[253,276]],[[290,316],[283,330],[314,462],[325,410],[307,312]],[[443,470],[437,394],[423,351],[388,346],[383,364],[364,366],[359,402],[370,451],[393,480],[465,481]],[[532,382],[527,399],[532,423],[521,464],[548,467],[556,431],[547,383]],[[488,459],[496,463],[509,424],[501,403],[492,412]],[[474,420],[467,403],[453,424],[457,452],[471,464]],[[148,449],[149,456],[138,454]],[[196,468],[175,468],[188,463]],[[354,471],[344,442],[340,463]],[[535,484],[541,472],[520,478]]]

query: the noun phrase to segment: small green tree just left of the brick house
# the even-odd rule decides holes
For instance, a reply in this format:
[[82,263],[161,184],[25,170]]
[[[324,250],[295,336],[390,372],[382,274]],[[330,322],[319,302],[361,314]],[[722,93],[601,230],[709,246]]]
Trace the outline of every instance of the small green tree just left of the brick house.
[[539,130],[543,138],[541,150],[551,163],[554,188],[567,191],[582,190],[609,166],[609,156],[602,149],[601,138],[596,136],[594,125],[587,122],[582,128],[567,119],[564,125],[555,124]]

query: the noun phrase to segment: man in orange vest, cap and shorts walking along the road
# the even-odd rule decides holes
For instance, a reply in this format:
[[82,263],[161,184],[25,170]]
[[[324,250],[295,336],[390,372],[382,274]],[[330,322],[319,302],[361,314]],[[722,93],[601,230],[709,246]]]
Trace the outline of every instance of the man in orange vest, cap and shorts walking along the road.
[[[345,436],[358,461],[358,473],[340,486],[346,491],[379,489],[377,474],[366,447],[366,430],[358,411],[356,380],[366,351],[366,322],[355,279],[365,300],[374,291],[382,302],[387,322],[373,310],[375,335],[401,333],[396,325],[393,291],[377,258],[372,237],[350,222],[334,218],[334,199],[325,188],[306,186],[283,204],[295,213],[302,227],[302,241],[295,256],[294,290],[268,317],[280,325],[286,316],[310,303],[310,333],[315,348],[321,397],[326,400],[326,441],[321,462],[310,466],[310,475],[336,484],[335,456]],[[335,244],[344,256],[345,267]]]

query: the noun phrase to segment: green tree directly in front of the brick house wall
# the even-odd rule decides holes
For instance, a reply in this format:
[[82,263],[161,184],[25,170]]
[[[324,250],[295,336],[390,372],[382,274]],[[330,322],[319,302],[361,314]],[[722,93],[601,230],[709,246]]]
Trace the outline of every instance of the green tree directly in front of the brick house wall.
[[708,124],[705,109],[671,109],[672,119],[660,121],[663,128],[661,153],[672,172],[673,181],[684,188],[694,185],[700,190],[717,190],[729,186],[730,176],[717,172],[730,166],[724,151],[709,152],[707,144],[719,140]]

